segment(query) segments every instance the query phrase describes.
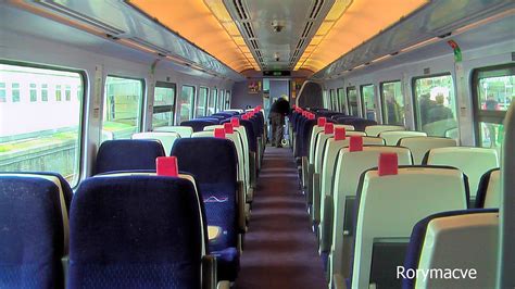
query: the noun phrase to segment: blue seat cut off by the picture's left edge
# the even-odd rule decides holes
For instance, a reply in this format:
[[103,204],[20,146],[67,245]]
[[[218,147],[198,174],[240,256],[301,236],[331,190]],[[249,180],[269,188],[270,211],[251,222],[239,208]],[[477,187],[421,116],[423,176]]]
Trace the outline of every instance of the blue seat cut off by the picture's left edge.
[[0,174],[0,288],[64,288],[71,191],[55,174]]

